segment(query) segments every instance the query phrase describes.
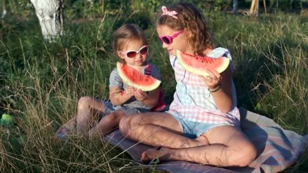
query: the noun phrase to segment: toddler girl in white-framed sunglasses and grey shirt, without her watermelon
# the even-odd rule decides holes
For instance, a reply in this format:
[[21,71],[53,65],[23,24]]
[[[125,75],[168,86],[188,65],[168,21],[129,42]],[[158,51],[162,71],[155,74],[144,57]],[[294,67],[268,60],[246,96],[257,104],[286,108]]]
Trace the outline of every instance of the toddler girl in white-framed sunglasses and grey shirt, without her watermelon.
[[[126,24],[115,31],[113,50],[123,63],[154,78],[161,78],[158,68],[146,62],[147,41],[144,32],[137,25]],[[111,103],[91,97],[80,98],[76,118],[60,127],[56,135],[63,139],[76,124],[79,134],[102,137],[117,128],[124,116],[150,111],[158,104],[159,94],[160,88],[146,93],[126,85],[121,80],[117,68],[114,68],[109,77]]]

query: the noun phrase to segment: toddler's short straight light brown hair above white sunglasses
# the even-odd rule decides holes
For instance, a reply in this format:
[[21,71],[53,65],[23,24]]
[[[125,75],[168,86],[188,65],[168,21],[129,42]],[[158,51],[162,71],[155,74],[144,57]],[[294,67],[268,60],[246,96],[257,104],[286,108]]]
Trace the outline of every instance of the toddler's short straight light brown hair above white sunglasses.
[[[125,24],[113,34],[113,51],[118,52],[123,50],[129,40],[142,40],[143,44],[147,45],[145,33],[139,26],[135,24]],[[124,61],[122,62],[125,63]]]

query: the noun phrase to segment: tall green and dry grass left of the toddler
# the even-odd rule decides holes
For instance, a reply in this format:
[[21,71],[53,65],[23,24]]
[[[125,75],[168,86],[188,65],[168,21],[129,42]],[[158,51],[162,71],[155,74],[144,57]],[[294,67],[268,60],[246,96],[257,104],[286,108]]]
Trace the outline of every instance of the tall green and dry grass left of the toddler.
[[81,96],[108,99],[115,24],[110,18],[72,22],[65,36],[50,45],[43,42],[39,26],[4,36],[1,111],[13,115],[16,125],[0,127],[1,172],[152,171],[109,144],[77,136],[65,142],[54,138],[60,124],[75,115]]

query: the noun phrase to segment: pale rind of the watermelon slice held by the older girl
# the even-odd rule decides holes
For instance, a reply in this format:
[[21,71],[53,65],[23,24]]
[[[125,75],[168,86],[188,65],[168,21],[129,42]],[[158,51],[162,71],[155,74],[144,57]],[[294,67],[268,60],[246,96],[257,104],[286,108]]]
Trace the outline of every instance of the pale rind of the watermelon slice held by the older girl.
[[[182,51],[180,51],[180,50],[176,50],[176,57],[177,57],[179,63],[181,64],[181,66],[182,66],[185,70],[187,70],[187,71],[189,71],[189,72],[191,72],[191,73],[193,73],[193,74],[197,74],[197,75],[201,75],[201,76],[209,76],[209,74],[208,74],[205,70],[203,70],[203,69],[198,69],[198,68],[194,68],[194,67],[188,65],[187,63],[185,63],[185,62],[183,61],[182,57],[181,57],[181,52],[182,52]],[[215,69],[218,73],[221,73],[221,72],[223,72],[226,68],[228,68],[229,63],[230,63],[230,59],[229,59],[229,58],[226,58],[226,57],[219,57],[219,58],[223,58],[223,59],[222,59],[222,60],[223,60],[222,63],[221,63],[218,67],[215,67],[215,68],[213,68],[213,69]],[[191,61],[193,61],[193,60],[191,60]],[[196,61],[197,61],[197,60],[196,60]]]

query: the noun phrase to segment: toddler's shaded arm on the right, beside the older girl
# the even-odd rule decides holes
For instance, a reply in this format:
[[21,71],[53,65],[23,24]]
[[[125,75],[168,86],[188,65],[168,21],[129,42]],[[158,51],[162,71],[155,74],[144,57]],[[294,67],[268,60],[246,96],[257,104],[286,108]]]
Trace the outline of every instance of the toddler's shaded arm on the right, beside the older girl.
[[161,86],[159,86],[157,89],[150,91],[148,92],[148,94],[146,94],[146,92],[136,89],[134,95],[137,100],[141,101],[145,105],[154,107],[158,104],[159,97],[160,97],[160,90],[161,90]]

